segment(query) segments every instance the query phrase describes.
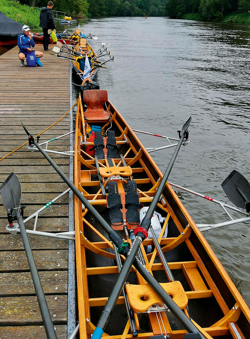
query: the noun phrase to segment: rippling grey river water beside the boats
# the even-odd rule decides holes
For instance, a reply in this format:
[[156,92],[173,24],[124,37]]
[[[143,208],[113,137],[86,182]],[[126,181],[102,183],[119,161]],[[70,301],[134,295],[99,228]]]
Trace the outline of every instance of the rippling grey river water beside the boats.
[[[80,25],[98,37],[92,46],[111,44],[115,61],[95,80],[132,128],[176,138],[192,116],[190,144],[181,148],[169,181],[224,202],[220,184],[233,169],[250,181],[249,26],[150,17]],[[164,145],[161,138],[138,136],[147,147]],[[162,172],[172,153],[151,153]],[[228,220],[214,203],[175,191],[195,222]],[[249,223],[204,236],[250,306]]]

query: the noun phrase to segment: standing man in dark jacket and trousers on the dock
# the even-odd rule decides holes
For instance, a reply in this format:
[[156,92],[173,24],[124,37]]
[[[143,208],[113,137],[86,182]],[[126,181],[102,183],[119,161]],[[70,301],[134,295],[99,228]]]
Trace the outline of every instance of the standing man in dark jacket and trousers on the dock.
[[53,6],[54,6],[53,2],[49,1],[47,7],[41,8],[39,27],[42,27],[43,31],[42,44],[44,51],[50,50],[48,48],[50,43],[50,35],[48,34],[48,29],[52,29],[53,31],[53,29],[56,28],[55,19],[51,11]]

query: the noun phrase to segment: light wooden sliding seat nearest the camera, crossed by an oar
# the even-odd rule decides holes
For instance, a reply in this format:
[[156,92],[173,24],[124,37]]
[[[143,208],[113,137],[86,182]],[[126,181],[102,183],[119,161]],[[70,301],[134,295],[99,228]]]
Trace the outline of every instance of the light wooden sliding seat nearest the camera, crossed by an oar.
[[[188,305],[188,297],[179,281],[160,283],[161,287],[172,297],[174,302],[183,310]],[[146,285],[126,284],[129,304],[136,313],[146,312],[154,304],[162,303],[153,288]],[[143,298],[145,296],[146,298]],[[148,298],[148,300],[146,300]],[[144,300],[143,300],[144,299]]]

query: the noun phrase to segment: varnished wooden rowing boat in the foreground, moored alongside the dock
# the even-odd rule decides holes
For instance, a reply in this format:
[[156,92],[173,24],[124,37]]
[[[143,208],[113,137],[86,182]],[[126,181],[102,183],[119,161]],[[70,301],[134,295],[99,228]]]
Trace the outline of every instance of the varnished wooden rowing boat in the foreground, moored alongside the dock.
[[[86,110],[83,109],[79,96],[75,130],[75,186],[112,228],[131,243],[130,230],[134,230],[139,223],[131,218],[130,206],[126,205],[128,185],[133,182],[135,195],[138,192],[139,204],[147,207],[157,190],[162,173],[130,126],[108,100],[106,91],[84,91],[83,101],[87,104]],[[114,149],[109,152],[110,143],[105,136],[103,139],[101,136],[102,144],[97,144],[95,139],[98,139],[100,133],[95,132],[95,138],[90,134],[90,126],[94,125],[100,126],[103,134],[108,132],[107,129],[114,131],[115,152]],[[98,155],[97,164],[94,155]],[[118,190],[118,198],[115,194],[117,203],[120,197],[118,218],[111,217],[111,212],[107,210],[111,205],[109,196],[113,196],[110,188],[115,183]],[[104,195],[101,185],[104,190],[106,188]],[[138,213],[141,207],[139,204],[136,207]],[[133,212],[136,212],[135,209]],[[158,242],[174,281],[159,259],[152,239],[145,239],[139,252],[147,270],[164,284],[167,293],[191,317],[205,338],[249,338],[248,306],[168,183],[156,212],[164,218],[160,224]],[[76,197],[75,236],[80,338],[90,338],[115,283],[118,266],[114,261],[116,257],[112,242]],[[152,252],[147,253],[147,246],[150,245]],[[187,333],[172,313],[166,312],[162,301],[134,267],[127,278],[126,293],[138,338],[165,335],[171,339],[182,339]],[[103,333],[107,339],[133,337],[124,303],[125,299],[121,294],[110,323]],[[153,312],[156,306],[159,306],[159,312]]]

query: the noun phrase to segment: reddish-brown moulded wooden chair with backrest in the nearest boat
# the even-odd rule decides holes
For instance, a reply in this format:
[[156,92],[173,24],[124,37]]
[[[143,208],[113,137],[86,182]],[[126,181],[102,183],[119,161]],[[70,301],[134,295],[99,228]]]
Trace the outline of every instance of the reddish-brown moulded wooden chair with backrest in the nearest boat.
[[98,122],[109,120],[109,113],[104,111],[103,105],[108,100],[108,92],[102,89],[83,91],[83,101],[87,105],[84,112],[86,120]]

